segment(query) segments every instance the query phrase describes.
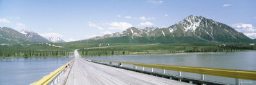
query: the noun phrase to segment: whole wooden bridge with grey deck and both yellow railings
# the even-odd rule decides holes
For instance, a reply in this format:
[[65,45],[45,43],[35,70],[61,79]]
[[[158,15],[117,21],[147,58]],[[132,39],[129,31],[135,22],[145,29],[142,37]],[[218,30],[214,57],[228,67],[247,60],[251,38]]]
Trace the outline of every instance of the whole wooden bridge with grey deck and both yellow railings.
[[[235,84],[240,84],[240,79],[256,80],[256,71],[250,70],[230,70],[220,68],[89,60],[80,57],[77,50],[75,50],[74,55],[75,57],[71,62],[68,62],[64,66],[53,71],[53,73],[46,75],[33,84],[224,84],[205,80],[205,75],[234,77],[236,79]],[[113,65],[112,63],[116,63],[118,65]],[[132,64],[134,65],[134,68],[123,67],[122,64]],[[143,70],[138,70],[137,66],[141,66]],[[145,67],[152,68],[152,70],[145,71]],[[163,73],[154,73],[153,68],[163,69]],[[179,71],[179,75],[166,75],[165,70],[177,70]],[[182,77],[181,71],[199,73],[202,76],[201,79],[190,79],[188,77]]]

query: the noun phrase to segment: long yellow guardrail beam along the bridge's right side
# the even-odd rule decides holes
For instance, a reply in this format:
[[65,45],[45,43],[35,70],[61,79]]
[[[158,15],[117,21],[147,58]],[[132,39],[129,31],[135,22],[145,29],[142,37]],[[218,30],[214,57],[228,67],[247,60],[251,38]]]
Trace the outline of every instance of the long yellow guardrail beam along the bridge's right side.
[[[93,62],[112,62],[103,60],[92,60]],[[163,65],[163,64],[142,64],[132,62],[113,62],[120,64],[134,64],[135,66],[142,66],[147,68],[159,68],[164,70],[176,70],[188,73],[199,73],[204,75],[215,75],[221,77],[232,77],[236,79],[250,79],[256,80],[256,71],[253,70],[234,70],[224,68],[204,68],[204,67],[193,67],[193,66],[174,66],[174,65]]]

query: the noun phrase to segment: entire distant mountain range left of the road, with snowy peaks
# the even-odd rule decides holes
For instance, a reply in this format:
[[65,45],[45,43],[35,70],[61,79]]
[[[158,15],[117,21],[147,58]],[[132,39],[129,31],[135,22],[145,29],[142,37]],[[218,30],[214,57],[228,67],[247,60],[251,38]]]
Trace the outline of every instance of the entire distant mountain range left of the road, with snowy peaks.
[[0,27],[0,44],[28,44],[45,42],[64,42],[60,37],[42,37],[31,30],[18,32],[12,28]]

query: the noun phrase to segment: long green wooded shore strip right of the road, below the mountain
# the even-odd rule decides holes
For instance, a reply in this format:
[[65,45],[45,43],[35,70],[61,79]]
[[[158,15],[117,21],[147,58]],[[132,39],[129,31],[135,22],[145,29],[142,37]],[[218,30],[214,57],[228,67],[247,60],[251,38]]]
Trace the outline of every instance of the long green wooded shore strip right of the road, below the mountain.
[[102,55],[138,55],[161,53],[203,53],[203,52],[234,52],[242,50],[255,50],[255,46],[244,44],[159,44],[152,46],[120,46],[109,48],[82,48],[79,50],[82,56]]

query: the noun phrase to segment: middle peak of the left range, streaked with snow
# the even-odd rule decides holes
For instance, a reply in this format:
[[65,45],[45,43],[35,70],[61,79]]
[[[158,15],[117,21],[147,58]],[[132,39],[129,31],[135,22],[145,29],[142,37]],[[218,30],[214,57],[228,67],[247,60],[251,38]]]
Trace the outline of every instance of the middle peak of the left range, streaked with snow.
[[38,35],[36,32],[33,32],[31,30],[21,30],[20,33],[24,34],[30,41],[33,41],[33,42],[39,42],[39,43],[51,42],[45,37],[42,37],[41,35]]

